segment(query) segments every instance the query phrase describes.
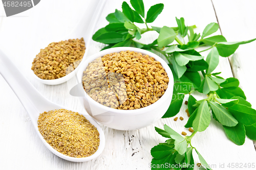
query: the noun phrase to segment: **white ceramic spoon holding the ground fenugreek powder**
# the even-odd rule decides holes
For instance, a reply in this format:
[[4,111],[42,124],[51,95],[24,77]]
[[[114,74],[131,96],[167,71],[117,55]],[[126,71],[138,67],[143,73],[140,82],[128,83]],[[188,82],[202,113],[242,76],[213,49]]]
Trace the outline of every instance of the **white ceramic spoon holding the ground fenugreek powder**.
[[[50,111],[55,109],[67,109],[67,110],[71,110],[71,109],[56,105],[51,101],[49,101],[48,99],[44,98],[44,96],[42,96],[36,90],[36,88],[23,76],[22,72],[20,72],[16,68],[16,66],[11,62],[10,59],[8,59],[8,57],[1,50],[0,50],[0,74],[7,81],[9,86],[17,95],[19,101],[23,104],[24,108],[28,112],[31,122],[34,125],[34,128],[36,130],[36,133],[38,134],[42,142],[55,155],[72,162],[86,162],[96,158],[102,153],[105,145],[104,133],[101,127],[99,126],[99,124],[95,122],[95,120],[88,113],[83,115],[90,121],[91,124],[93,124],[97,128],[100,134],[99,135],[100,144],[96,153],[94,153],[92,156],[85,157],[85,158],[74,158],[74,157],[63,155],[58,151],[56,151],[55,149],[53,149],[51,145],[45,141],[45,139],[42,137],[42,135],[38,131],[38,127],[37,127],[38,116],[40,113],[45,111]],[[75,111],[75,110],[72,110],[72,111]]]

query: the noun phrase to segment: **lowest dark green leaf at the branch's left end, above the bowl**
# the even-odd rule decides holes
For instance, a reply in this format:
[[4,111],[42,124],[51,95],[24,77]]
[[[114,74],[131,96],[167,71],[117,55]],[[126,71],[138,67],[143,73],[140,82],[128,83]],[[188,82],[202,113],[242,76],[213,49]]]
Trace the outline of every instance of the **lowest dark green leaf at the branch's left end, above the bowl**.
[[117,43],[123,40],[123,35],[117,32],[106,32],[98,36],[95,41],[105,44]]

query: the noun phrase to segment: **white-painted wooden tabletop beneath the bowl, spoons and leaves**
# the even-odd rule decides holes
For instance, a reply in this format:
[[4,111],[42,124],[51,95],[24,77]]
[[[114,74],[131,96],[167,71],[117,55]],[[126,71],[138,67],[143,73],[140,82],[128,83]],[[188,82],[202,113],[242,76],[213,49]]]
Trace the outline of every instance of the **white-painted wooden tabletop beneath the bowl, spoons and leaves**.
[[[196,24],[198,26],[196,32],[202,32],[208,23],[217,22],[215,11],[210,0],[146,1],[145,9],[147,10],[150,6],[160,2],[164,3],[165,7],[159,18],[152,23],[152,26],[160,27],[166,25],[174,27],[176,26],[175,16],[177,16],[184,17],[187,25]],[[216,2],[214,1],[214,5],[216,4],[215,8],[223,35],[229,41],[241,40],[243,36],[237,37],[237,39],[232,39],[233,34],[230,33],[230,29],[232,28],[224,29],[225,20],[221,22],[221,18],[225,18],[226,16],[224,14],[223,16],[219,16],[218,8],[219,11],[227,11],[224,7],[220,7],[223,1]],[[239,3],[233,1],[232,3],[230,2],[231,1],[229,1],[229,4]],[[108,24],[105,20],[105,16],[114,12],[116,8],[120,10],[121,4],[122,1],[120,0],[109,0],[106,3],[95,31]],[[24,17],[16,16],[0,18],[0,46],[19,67],[20,71],[24,72],[29,81],[46,98],[59,105],[78,111],[83,111],[83,109],[78,99],[69,95],[67,83],[56,86],[44,85],[36,82],[28,72],[30,71],[32,59],[39,52],[40,48],[44,48],[56,39],[62,40],[61,37],[67,35],[69,31],[72,30],[73,26],[80,20],[79,16],[83,14],[84,8],[87,5],[88,1],[71,2],[44,0],[31,10],[17,15]],[[239,5],[240,4],[237,6],[232,5],[230,11],[235,7],[239,9]],[[253,3],[251,3],[251,5],[248,3],[248,6],[251,6],[249,9],[253,12]],[[249,15],[250,12],[248,8],[245,9],[247,9],[246,12]],[[5,15],[1,5],[0,15]],[[240,13],[240,15],[243,14]],[[229,17],[232,18],[231,15]],[[240,25],[244,20],[245,19],[241,19]],[[255,25],[255,18],[253,22],[254,25],[249,25],[249,20],[250,19],[246,20],[245,23],[248,24],[248,26],[245,27],[248,27],[248,30],[251,31],[252,34],[253,28],[255,28],[253,27]],[[230,21],[229,24],[236,25],[236,18]],[[241,27],[241,32],[242,29],[244,28]],[[221,33],[218,31],[216,34]],[[238,34],[236,34],[236,36],[237,35]],[[255,35],[255,33],[253,35]],[[150,43],[157,38],[157,34],[154,32],[146,33],[145,36],[146,37],[141,40],[145,43]],[[244,37],[244,39],[249,38],[252,37],[249,35]],[[237,72],[237,75],[240,75],[238,78],[241,81],[241,87],[245,90],[248,100],[253,105],[253,101],[255,103],[255,100],[252,98],[253,94],[250,95],[250,93],[252,93],[249,91],[250,86],[245,86],[249,84],[249,82],[252,84],[252,81],[248,81],[248,76],[247,79],[244,77],[246,74],[248,75],[248,69],[250,69],[248,67],[251,65],[250,61],[253,58],[254,53],[252,51],[248,52],[248,49],[246,50],[243,48],[245,46],[248,46],[248,44],[241,46],[239,51],[234,55],[241,56],[240,60],[236,61],[237,63],[244,64],[243,71],[234,71],[233,64],[232,67],[233,73]],[[90,51],[91,53],[96,53],[102,47],[103,44],[93,41]],[[251,48],[253,48],[253,46],[251,46]],[[202,53],[204,56],[206,54],[207,53]],[[245,57],[248,57],[247,61],[241,59]],[[217,67],[216,71],[222,71],[222,76],[224,78],[232,76],[232,71],[227,58],[220,58],[220,65]],[[234,74],[234,76],[236,76],[236,74]],[[103,153],[98,158],[89,162],[68,162],[52,154],[41,143],[25,109],[19,103],[15,94],[2,76],[0,76],[0,86],[0,145],[3,146],[0,154],[0,169],[150,169],[148,164],[152,159],[150,155],[151,148],[157,143],[165,140],[154,131],[155,126],[163,128],[163,125],[167,124],[179,133],[182,131],[188,132],[187,129],[184,128],[188,117],[186,117],[185,113],[186,106],[183,105],[178,114],[178,116],[184,117],[183,121],[179,120],[174,122],[173,118],[161,119],[152,126],[136,131],[118,131],[102,126],[106,137],[106,145]],[[253,88],[251,87],[250,89]],[[204,95],[199,93],[196,93],[195,97],[198,100],[205,98]],[[188,132],[188,134],[190,133]],[[225,163],[225,165],[232,162],[253,163],[256,160],[256,152],[251,140],[246,139],[244,145],[237,146],[227,139],[223,128],[215,120],[211,120],[208,129],[198,133],[193,138],[192,143],[209,164],[217,165],[214,169],[223,169],[219,168],[220,163]],[[194,155],[196,156],[195,153]],[[195,162],[198,163],[197,158]]]

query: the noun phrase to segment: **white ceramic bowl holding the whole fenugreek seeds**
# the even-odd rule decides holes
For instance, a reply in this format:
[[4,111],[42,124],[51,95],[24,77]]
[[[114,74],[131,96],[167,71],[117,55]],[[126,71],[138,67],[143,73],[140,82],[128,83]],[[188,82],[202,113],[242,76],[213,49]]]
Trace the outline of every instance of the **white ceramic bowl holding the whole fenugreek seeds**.
[[[113,108],[103,106],[98,102],[94,101],[84,91],[81,84],[83,71],[87,68],[90,62],[92,62],[98,57],[102,57],[105,54],[118,53],[118,52],[127,51],[127,50],[138,52],[138,53],[141,53],[142,55],[148,55],[150,57],[154,57],[156,61],[160,61],[160,63],[162,64],[163,68],[165,69],[169,77],[168,87],[165,93],[161,96],[161,98],[157,102],[155,102],[150,106],[146,106],[144,108],[135,109],[135,110],[118,110],[118,109],[113,109]],[[86,111],[94,119],[96,119],[97,122],[109,128],[113,128],[117,130],[135,130],[135,129],[140,129],[140,128],[144,128],[146,126],[152,125],[164,115],[164,113],[167,111],[170,105],[170,102],[172,101],[174,80],[173,80],[172,71],[170,70],[169,66],[163,59],[161,59],[156,54],[148,52],[146,50],[142,50],[140,48],[115,47],[115,48],[109,48],[107,50],[98,52],[97,54],[87,58],[86,61],[80,64],[80,68],[78,69],[78,72],[77,72],[77,78],[79,81],[78,90],[80,93],[84,94],[84,96],[82,96],[80,99]]]

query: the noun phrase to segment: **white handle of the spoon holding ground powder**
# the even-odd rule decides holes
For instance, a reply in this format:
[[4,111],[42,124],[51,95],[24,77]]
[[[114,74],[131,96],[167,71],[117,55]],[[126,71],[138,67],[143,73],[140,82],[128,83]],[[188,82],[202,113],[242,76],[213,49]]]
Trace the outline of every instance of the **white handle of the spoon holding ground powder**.
[[49,101],[23,76],[2,50],[0,50],[0,74],[12,88],[31,119],[36,120],[32,122],[36,123],[39,113]]

